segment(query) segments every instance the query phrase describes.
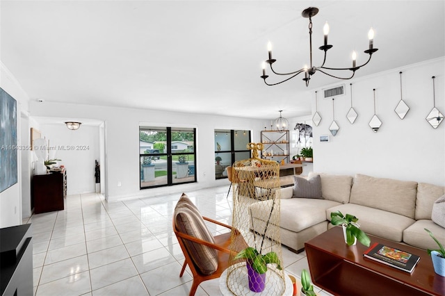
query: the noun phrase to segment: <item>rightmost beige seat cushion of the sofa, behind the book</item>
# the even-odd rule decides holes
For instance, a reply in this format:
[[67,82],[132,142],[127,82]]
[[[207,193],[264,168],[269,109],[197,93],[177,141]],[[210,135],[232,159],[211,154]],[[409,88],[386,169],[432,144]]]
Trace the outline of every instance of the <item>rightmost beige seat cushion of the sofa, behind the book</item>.
[[445,242],[445,228],[432,222],[432,220],[418,220],[403,231],[403,242],[421,249],[439,249],[437,243],[432,240],[425,228],[431,231],[434,236],[442,242]]

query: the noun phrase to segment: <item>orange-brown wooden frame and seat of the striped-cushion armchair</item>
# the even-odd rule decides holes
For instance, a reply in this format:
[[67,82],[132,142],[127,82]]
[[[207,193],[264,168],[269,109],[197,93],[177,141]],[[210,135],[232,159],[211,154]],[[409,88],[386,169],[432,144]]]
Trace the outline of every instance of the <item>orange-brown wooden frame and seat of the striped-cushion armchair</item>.
[[[184,197],[184,194],[183,194]],[[182,197],[181,197],[182,199]],[[181,202],[181,199],[179,202]],[[179,204],[178,202],[178,204]],[[192,204],[193,205],[193,204]],[[194,205],[193,205],[194,206]],[[178,208],[178,206],[177,206]],[[190,289],[190,293],[188,293],[189,296],[195,295],[196,289],[198,286],[200,286],[200,283],[202,281],[207,281],[209,279],[216,279],[220,277],[220,275],[224,272],[224,270],[229,266],[229,255],[236,255],[239,251],[242,249],[245,249],[245,247],[248,247],[248,245],[245,243],[245,240],[241,233],[239,233],[238,230],[232,228],[231,226],[227,224],[223,224],[221,222],[218,222],[216,220],[212,220],[208,217],[203,217],[200,215],[200,218],[202,221],[198,221],[198,223],[204,222],[204,220],[218,224],[220,226],[226,227],[227,229],[230,229],[231,232],[234,233],[234,243],[232,246],[236,246],[236,252],[234,250],[230,250],[230,243],[231,243],[231,232],[223,233],[218,236],[212,236],[213,241],[211,242],[209,240],[205,240],[202,238],[197,238],[197,236],[200,236],[200,233],[197,233],[197,235],[193,235],[193,233],[188,234],[186,232],[190,231],[181,231],[181,227],[178,225],[177,221],[177,215],[178,213],[181,213],[181,209],[175,208],[175,215],[173,216],[173,231],[175,231],[175,235],[179,241],[179,245],[181,246],[182,252],[185,256],[184,265],[182,265],[181,273],[179,274],[179,277],[182,277],[184,274],[184,271],[186,270],[186,266],[188,265],[192,274],[193,274],[193,284]],[[193,209],[195,211],[195,209]],[[197,211],[197,210],[196,210]],[[199,212],[198,212],[199,213]],[[180,220],[180,219],[179,219]],[[180,222],[179,222],[180,223]],[[207,229],[205,229],[207,230]],[[214,270],[211,274],[204,274],[202,270],[200,270],[199,264],[197,265],[197,259],[196,259],[196,247],[202,247],[206,246],[209,247],[211,250],[215,250],[217,256],[215,258],[200,258],[202,261],[211,261],[213,259],[217,260],[217,268]],[[195,254],[193,254],[195,252]],[[199,252],[199,251],[198,251]],[[207,252],[199,252],[199,256],[207,256],[205,254]],[[206,272],[209,273],[209,272]]]

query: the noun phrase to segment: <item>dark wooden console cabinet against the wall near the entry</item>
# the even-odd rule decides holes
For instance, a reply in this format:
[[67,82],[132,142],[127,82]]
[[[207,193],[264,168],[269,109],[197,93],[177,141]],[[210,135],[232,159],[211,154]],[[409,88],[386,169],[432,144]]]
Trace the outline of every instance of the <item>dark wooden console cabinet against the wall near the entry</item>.
[[35,214],[63,210],[67,195],[66,170],[33,176],[32,190]]

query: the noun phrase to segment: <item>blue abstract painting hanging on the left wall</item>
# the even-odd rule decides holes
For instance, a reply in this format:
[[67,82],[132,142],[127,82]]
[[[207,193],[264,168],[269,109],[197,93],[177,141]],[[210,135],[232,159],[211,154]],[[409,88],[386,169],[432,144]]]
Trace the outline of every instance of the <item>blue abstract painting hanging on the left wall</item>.
[[17,183],[17,101],[0,88],[0,192]]

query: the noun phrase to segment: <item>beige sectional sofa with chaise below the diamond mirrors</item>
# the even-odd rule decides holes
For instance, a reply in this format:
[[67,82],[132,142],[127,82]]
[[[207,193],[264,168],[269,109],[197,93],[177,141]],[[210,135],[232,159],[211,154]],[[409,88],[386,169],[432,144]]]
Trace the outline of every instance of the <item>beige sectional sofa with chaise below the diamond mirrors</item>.
[[[315,175],[311,173],[307,179]],[[307,240],[333,227],[330,224],[333,211],[355,215],[361,229],[373,236],[421,249],[436,249],[437,245],[424,230],[427,228],[445,242],[445,228],[431,220],[432,205],[445,194],[443,186],[364,174],[320,176],[322,199],[292,198],[293,187],[277,192],[282,245],[293,251],[301,251]]]

